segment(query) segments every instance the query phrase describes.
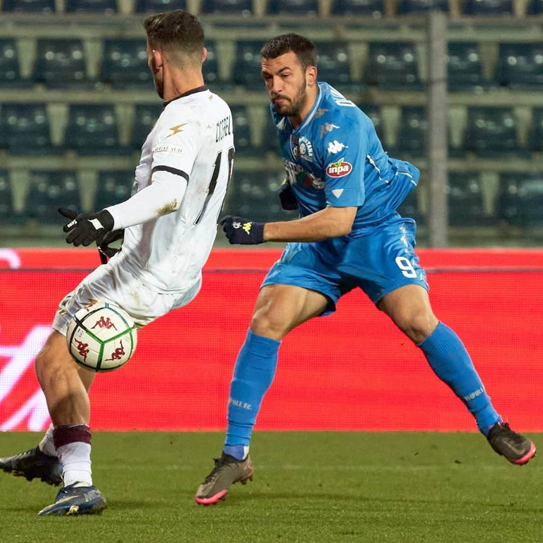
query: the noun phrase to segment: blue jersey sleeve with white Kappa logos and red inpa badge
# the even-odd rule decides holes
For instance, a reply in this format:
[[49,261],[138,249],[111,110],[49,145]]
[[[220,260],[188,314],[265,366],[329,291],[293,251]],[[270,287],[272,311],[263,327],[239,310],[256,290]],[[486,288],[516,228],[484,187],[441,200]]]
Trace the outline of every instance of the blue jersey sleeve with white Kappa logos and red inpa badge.
[[359,118],[327,131],[321,140],[326,205],[359,207],[364,204],[364,166],[368,154],[368,130]]

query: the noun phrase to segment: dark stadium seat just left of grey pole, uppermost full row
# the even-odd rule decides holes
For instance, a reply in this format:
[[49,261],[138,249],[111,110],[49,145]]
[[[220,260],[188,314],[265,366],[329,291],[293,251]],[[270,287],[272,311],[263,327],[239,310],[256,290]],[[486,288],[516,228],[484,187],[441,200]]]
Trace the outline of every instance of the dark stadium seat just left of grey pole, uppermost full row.
[[371,42],[364,80],[390,91],[422,89],[413,43]]

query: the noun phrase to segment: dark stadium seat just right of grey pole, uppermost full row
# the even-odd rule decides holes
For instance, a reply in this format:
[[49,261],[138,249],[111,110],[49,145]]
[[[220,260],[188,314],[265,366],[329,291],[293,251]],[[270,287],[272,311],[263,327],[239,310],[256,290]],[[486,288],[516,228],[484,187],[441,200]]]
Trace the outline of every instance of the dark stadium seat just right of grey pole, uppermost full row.
[[450,91],[471,91],[490,86],[484,77],[478,43],[449,42],[448,53],[447,84]]

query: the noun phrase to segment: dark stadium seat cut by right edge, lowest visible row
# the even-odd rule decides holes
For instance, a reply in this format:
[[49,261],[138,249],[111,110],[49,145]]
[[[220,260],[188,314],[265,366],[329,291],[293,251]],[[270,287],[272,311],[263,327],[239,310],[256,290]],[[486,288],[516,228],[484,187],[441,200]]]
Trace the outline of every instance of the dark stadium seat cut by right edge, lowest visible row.
[[496,215],[512,226],[543,225],[543,174],[500,175]]

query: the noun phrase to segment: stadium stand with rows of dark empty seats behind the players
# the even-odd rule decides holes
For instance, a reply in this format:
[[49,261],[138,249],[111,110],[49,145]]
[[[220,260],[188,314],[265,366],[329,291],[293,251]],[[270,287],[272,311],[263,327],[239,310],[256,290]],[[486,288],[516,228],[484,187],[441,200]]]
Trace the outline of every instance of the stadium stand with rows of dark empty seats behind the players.
[[425,12],[438,9],[449,14],[450,242],[543,241],[543,0],[0,0],[1,245],[61,245],[59,205],[128,197],[161,110],[142,21],[178,8],[201,17],[206,83],[232,108],[225,211],[293,218],[275,194],[284,175],[258,51],[299,31],[317,43],[319,79],[361,105],[391,156],[421,169],[401,212],[424,245]]

